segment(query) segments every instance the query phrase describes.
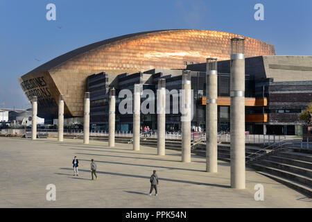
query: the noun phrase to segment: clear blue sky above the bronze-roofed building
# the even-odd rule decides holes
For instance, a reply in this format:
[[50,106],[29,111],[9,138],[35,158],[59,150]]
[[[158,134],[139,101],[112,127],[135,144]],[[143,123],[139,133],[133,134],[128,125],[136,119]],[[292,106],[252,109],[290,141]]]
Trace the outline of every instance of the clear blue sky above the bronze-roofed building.
[[[46,20],[48,3],[56,6],[56,21]],[[264,21],[254,20],[256,3],[264,6]],[[110,37],[174,28],[215,30],[273,44],[277,55],[311,56],[311,27],[311,0],[0,0],[0,107],[3,101],[7,108],[29,106],[19,76]]]

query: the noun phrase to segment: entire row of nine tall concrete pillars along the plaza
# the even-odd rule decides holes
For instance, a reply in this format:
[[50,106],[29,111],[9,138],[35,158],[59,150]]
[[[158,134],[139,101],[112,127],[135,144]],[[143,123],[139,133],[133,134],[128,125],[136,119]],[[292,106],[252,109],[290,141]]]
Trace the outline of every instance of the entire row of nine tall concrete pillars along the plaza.
[[[245,189],[245,56],[244,39],[232,39],[231,75],[230,75],[230,158],[231,187]],[[216,58],[207,59],[206,74],[206,170],[218,171],[218,77]],[[182,162],[191,162],[191,74],[182,74]],[[135,84],[133,94],[133,150],[140,150],[140,108],[142,85]],[[115,140],[115,89],[110,89],[109,99],[109,146]],[[166,80],[158,80],[157,90],[157,155],[165,155],[166,126]],[[90,93],[85,92],[83,142],[89,144]],[[58,108],[58,141],[63,141],[64,97],[60,95]],[[33,99],[32,138],[37,137],[37,97]]]

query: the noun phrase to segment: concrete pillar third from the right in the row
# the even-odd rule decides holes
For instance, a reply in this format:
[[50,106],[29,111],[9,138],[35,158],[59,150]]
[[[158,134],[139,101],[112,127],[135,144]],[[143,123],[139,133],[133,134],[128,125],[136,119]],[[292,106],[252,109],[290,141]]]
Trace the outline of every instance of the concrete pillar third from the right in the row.
[[191,72],[182,74],[182,162],[191,162]]

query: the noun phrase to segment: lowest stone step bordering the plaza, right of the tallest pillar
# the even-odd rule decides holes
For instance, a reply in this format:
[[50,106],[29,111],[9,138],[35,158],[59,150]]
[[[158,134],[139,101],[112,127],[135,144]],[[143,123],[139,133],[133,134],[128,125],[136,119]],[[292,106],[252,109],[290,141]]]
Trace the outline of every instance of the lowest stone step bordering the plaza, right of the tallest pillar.
[[292,189],[300,191],[302,194],[305,194],[309,198],[312,197],[312,187],[309,185],[304,185],[300,182],[289,180],[281,176],[275,176],[275,175],[272,175],[271,173],[265,173],[265,172],[259,172],[259,171],[257,171],[257,173],[260,173],[263,176],[267,176],[268,178],[271,178],[272,180],[276,180],[277,182],[280,182],[288,187],[291,187]]

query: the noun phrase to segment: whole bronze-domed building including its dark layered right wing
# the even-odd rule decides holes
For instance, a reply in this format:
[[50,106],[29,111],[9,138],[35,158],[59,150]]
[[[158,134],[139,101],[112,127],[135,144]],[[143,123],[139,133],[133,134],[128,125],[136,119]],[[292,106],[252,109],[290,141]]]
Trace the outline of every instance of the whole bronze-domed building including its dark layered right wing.
[[[191,71],[193,130],[205,131],[206,59],[218,58],[218,129],[229,129],[230,40],[244,37],[220,31],[164,30],[114,37],[83,46],[46,62],[19,78],[28,100],[37,96],[38,116],[81,119],[85,92],[91,94],[90,124],[107,130],[108,93],[135,84],[157,90],[181,89],[182,72]],[[300,113],[312,101],[312,56],[276,56],[275,47],[245,38],[245,129],[250,133],[300,135]],[[120,100],[117,99],[118,107]],[[171,104],[172,108],[172,104]],[[118,108],[116,108],[118,110]],[[132,130],[132,114],[116,112],[116,130]],[[157,114],[141,114],[141,126],[157,128]],[[166,130],[180,130],[180,114],[166,114]]]

